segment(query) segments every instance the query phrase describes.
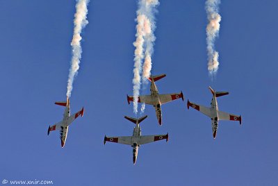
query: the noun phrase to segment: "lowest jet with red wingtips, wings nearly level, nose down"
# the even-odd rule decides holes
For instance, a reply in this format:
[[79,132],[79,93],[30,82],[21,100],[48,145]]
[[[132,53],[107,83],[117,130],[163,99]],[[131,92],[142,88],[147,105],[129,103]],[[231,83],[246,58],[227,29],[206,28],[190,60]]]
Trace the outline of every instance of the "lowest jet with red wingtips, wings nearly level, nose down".
[[139,119],[126,117],[126,116],[124,118],[136,124],[136,126],[133,129],[133,135],[119,136],[119,137],[108,137],[105,135],[104,144],[106,144],[106,142],[114,142],[119,144],[131,145],[133,148],[133,164],[136,164],[138,149],[141,144],[156,142],[158,140],[163,140],[163,139],[165,139],[166,142],[168,142],[169,140],[168,133],[166,135],[141,135],[141,128],[139,124],[141,121],[147,118],[147,115]]

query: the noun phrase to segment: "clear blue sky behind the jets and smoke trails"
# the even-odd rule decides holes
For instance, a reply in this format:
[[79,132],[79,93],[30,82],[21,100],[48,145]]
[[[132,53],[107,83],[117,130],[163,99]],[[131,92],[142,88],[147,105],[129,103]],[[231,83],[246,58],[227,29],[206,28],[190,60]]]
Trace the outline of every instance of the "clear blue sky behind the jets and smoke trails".
[[[60,121],[72,57],[74,0],[0,1],[1,129],[0,183],[53,180],[54,185],[277,185],[278,52],[277,0],[222,1],[220,66],[207,71],[204,1],[161,1],[152,74],[160,93],[183,91],[208,106],[211,85],[229,91],[220,110],[242,115],[243,125],[220,121],[213,140],[211,121],[181,99],[163,105],[158,126],[147,105],[143,135],[169,132],[170,140],[139,149],[106,143],[104,135],[131,135],[136,1],[92,0],[82,36],[82,59],[71,97],[65,148],[49,124]],[[148,94],[149,88],[143,93]]]

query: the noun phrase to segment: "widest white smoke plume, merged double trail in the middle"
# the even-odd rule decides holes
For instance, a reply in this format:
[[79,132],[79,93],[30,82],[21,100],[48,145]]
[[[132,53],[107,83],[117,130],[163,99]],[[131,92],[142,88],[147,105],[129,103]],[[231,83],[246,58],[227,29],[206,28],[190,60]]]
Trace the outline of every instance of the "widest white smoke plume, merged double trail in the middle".
[[[140,93],[141,74],[143,80],[149,78],[152,69],[152,53],[154,37],[154,22],[155,7],[158,6],[158,0],[140,0],[137,10],[137,26],[136,26],[136,42],[133,45],[136,47],[134,58],[134,77],[133,77],[133,112],[138,112],[138,96]],[[145,48],[144,48],[145,47]],[[145,53],[144,53],[145,50]],[[145,55],[144,55],[145,54]],[[145,62],[142,71],[142,60],[145,56]],[[142,105],[141,112],[144,112],[145,107]]]

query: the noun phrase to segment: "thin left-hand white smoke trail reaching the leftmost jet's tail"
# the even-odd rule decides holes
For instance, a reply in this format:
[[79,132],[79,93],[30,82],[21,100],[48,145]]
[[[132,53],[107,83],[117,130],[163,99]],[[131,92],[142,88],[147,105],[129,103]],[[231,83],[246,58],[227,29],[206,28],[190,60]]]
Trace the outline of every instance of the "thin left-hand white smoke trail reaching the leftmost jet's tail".
[[67,96],[70,97],[72,94],[72,83],[74,81],[74,77],[77,75],[77,71],[79,70],[79,63],[81,60],[81,31],[88,24],[87,14],[88,9],[87,5],[89,0],[77,0],[76,1],[76,13],[74,15],[74,35],[72,37],[72,66],[70,67],[70,74],[67,80]]

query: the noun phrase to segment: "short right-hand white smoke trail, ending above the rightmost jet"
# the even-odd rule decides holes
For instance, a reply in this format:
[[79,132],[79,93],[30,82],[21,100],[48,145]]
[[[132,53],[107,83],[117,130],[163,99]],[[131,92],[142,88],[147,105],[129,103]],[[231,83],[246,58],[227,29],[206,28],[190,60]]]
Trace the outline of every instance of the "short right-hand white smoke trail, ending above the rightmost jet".
[[215,38],[218,37],[220,30],[221,16],[219,15],[220,0],[206,0],[206,14],[208,25],[206,26],[206,44],[208,51],[208,72],[215,75],[218,71],[218,51],[214,49]]

